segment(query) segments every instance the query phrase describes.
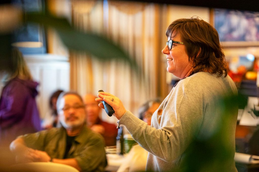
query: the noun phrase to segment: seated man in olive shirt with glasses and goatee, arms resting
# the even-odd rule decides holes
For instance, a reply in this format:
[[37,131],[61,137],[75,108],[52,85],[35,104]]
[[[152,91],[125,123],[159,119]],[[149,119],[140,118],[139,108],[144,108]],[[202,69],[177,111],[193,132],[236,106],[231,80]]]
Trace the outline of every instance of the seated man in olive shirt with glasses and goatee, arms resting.
[[85,125],[83,100],[63,92],[57,99],[61,128],[19,136],[11,145],[17,162],[54,162],[79,171],[104,171],[107,165],[103,137]]

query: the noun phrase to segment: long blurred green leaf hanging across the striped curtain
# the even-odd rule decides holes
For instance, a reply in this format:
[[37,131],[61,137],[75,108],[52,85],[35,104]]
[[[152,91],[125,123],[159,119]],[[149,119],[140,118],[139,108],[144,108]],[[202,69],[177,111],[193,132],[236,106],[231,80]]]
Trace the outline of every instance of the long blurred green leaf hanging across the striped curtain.
[[54,28],[64,45],[70,50],[87,52],[100,60],[121,59],[137,69],[136,62],[120,46],[103,36],[90,32],[82,33],[74,29],[65,18],[57,18],[43,13],[27,13],[25,22],[34,22]]

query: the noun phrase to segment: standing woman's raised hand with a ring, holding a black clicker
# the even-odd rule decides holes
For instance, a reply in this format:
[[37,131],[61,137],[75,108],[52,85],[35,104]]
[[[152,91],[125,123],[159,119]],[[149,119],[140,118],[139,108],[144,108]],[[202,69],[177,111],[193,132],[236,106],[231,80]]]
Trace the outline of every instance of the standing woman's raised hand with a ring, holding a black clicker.
[[[112,94],[110,94],[108,92],[98,92],[98,97],[99,98],[96,98],[95,101],[105,101],[106,103],[111,105],[111,107],[113,108],[113,110],[115,112],[114,113],[115,117],[118,120],[126,112],[126,109],[123,106],[123,103],[121,102],[121,100],[118,97],[113,96]],[[103,103],[99,103],[99,106],[104,109]]]

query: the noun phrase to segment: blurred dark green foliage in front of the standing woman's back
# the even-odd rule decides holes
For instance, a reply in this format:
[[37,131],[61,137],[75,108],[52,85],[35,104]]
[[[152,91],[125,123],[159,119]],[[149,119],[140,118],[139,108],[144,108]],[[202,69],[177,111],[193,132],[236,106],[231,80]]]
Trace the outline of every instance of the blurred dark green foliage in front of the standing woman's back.
[[[214,98],[217,102],[215,110],[222,111],[220,121],[213,134],[208,138],[195,138],[185,151],[181,172],[199,172],[210,169],[211,171],[224,171],[226,166],[233,162],[233,145],[229,145],[228,127],[229,122],[237,116],[238,106],[247,104],[247,99],[242,95],[228,95]],[[213,115],[213,113],[212,113]],[[195,125],[195,124],[194,124]],[[209,130],[208,130],[209,131]],[[230,162],[230,163],[228,163]]]

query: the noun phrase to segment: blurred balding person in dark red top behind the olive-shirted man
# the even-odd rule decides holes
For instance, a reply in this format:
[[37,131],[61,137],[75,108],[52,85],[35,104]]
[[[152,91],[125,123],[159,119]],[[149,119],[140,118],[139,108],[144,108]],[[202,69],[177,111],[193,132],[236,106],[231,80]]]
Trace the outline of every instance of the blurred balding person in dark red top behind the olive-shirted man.
[[98,106],[99,102],[95,101],[95,98],[97,97],[91,94],[84,96],[87,126],[104,137],[106,146],[115,146],[118,134],[117,126],[99,118],[102,108]]

